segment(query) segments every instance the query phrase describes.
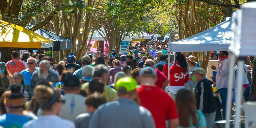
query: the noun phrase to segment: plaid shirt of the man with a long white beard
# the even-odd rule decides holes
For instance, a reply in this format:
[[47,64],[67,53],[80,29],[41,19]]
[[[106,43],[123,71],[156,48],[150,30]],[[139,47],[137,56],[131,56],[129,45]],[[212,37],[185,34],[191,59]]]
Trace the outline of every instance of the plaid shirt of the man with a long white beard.
[[[34,88],[36,86],[36,83],[41,80],[45,80],[45,79],[40,79],[38,77],[38,72],[34,72],[31,78],[30,86],[29,86],[29,93],[31,97],[34,95]],[[60,78],[56,73],[49,71],[49,75],[46,78],[46,81],[50,81],[50,82],[53,82],[53,84],[55,84],[60,82]]]

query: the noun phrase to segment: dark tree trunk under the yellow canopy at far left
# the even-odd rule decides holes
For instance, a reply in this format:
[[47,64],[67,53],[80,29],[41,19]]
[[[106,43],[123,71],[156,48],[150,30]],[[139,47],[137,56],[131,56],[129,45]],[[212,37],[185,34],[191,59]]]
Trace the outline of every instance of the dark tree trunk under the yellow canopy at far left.
[[0,48],[2,62],[7,63],[12,60],[12,52],[17,51],[17,48]]

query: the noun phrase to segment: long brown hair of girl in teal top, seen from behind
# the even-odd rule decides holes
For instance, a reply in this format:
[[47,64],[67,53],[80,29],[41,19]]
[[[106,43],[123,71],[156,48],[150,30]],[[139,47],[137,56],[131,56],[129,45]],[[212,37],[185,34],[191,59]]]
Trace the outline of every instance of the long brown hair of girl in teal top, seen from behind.
[[[180,89],[176,96],[176,106],[179,115],[179,126],[191,127],[197,126],[197,116],[200,118],[196,107],[196,98],[191,90]],[[200,120],[200,119],[199,119]]]

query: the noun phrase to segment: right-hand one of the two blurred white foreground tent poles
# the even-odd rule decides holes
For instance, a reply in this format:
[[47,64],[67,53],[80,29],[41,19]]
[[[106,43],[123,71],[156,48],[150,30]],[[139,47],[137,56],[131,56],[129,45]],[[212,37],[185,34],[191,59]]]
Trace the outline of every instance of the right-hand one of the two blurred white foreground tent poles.
[[244,72],[244,67],[243,67],[243,61],[239,60],[238,61],[238,79],[237,80],[237,103],[236,103],[236,122],[235,122],[235,128],[240,128],[240,115],[241,115],[241,103],[242,103],[242,81],[243,81],[243,72]]

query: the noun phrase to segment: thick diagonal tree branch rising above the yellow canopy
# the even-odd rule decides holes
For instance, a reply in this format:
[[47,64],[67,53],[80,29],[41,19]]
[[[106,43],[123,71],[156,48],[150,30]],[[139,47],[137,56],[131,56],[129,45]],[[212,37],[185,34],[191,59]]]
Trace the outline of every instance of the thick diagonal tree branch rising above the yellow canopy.
[[29,29],[31,31],[36,31],[42,27],[44,27],[50,20],[52,20],[54,18],[54,15],[57,14],[61,9],[66,8],[66,6],[58,6],[56,9],[54,10],[44,21],[42,21],[41,23],[37,24],[36,26],[34,26],[33,28]]

